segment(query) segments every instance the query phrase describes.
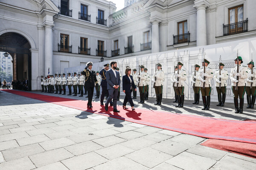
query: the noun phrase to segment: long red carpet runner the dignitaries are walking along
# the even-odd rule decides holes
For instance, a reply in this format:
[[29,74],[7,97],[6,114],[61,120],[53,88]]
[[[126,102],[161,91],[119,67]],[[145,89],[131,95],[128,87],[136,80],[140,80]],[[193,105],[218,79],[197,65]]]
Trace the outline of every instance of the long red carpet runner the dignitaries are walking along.
[[136,122],[180,133],[210,139],[222,139],[256,144],[256,122],[215,119],[203,116],[192,116],[138,108],[136,108],[135,111],[131,111],[131,107],[129,106],[128,110],[123,110],[121,106],[117,106],[117,109],[121,112],[113,113],[113,107],[109,107],[108,112],[106,112],[104,106],[101,106],[99,102],[93,102],[93,109],[87,110],[87,101],[83,100],[47,96],[24,91],[5,91],[32,99],[51,102],[57,105],[76,108],[82,111],[111,116],[113,118],[123,119],[129,122]]

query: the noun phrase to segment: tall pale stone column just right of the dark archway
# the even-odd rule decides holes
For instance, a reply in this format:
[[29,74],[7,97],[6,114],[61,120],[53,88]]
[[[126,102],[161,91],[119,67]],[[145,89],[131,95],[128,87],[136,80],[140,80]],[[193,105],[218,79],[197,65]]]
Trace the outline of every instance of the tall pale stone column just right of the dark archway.
[[52,74],[52,26],[44,25],[45,40],[44,40],[44,74],[48,75],[48,68]]

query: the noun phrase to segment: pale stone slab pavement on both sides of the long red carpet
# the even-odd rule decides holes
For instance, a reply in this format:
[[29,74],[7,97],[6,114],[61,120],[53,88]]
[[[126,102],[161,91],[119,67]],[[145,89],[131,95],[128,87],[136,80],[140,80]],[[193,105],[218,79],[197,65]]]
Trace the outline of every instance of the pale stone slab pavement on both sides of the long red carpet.
[[[143,108],[232,120],[256,117],[255,110],[233,113],[232,103],[221,109],[211,103],[210,111],[201,111],[191,101],[177,109],[170,99],[162,106],[154,100]],[[0,170],[255,170],[256,159],[200,145],[205,140],[0,91]]]

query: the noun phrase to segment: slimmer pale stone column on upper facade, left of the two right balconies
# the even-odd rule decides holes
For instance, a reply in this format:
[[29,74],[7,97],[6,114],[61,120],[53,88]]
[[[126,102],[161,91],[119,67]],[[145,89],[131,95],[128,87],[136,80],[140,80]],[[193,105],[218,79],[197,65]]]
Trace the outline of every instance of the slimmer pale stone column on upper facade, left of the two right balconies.
[[151,21],[152,23],[152,44],[151,44],[151,52],[152,53],[157,53],[159,52],[159,23],[160,21]]

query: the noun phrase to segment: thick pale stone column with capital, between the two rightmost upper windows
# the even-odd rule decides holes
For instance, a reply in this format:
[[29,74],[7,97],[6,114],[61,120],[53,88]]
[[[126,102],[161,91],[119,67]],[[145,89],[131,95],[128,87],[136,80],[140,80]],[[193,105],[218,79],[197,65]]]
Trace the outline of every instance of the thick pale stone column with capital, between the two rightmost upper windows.
[[196,16],[196,44],[197,46],[207,45],[206,34],[206,8],[209,3],[206,0],[197,0],[193,6],[197,10]]

